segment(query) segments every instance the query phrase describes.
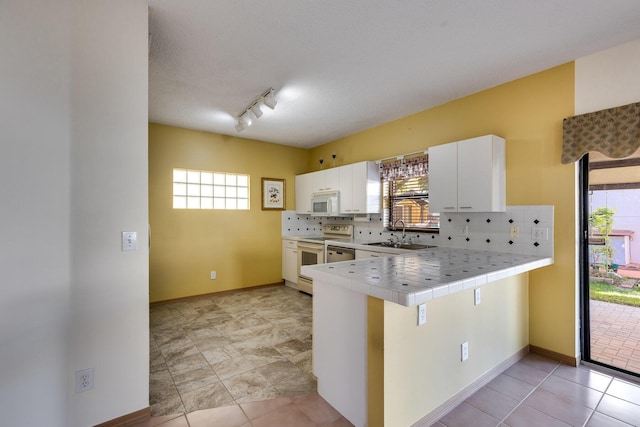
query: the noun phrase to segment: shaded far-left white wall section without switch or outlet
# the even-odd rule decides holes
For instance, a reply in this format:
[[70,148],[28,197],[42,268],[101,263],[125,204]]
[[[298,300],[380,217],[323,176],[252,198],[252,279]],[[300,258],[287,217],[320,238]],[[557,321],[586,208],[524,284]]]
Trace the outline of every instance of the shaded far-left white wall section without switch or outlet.
[[70,1],[0,4],[0,424],[65,426]]

